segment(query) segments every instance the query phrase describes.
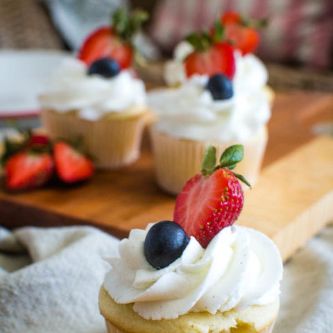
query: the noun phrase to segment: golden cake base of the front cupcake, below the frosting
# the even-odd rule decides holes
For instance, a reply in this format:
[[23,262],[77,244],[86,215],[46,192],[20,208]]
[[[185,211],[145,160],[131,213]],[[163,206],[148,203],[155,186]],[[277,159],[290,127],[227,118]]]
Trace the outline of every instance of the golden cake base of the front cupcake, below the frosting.
[[108,333],[271,333],[278,316],[279,300],[270,305],[253,305],[244,310],[191,312],[176,319],[152,321],[139,316],[133,304],[118,304],[102,286],[99,308]]

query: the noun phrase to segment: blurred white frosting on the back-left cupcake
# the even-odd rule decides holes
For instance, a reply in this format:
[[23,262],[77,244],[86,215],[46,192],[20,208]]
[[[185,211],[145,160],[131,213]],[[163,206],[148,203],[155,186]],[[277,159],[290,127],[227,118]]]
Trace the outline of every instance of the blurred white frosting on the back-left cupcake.
[[40,98],[42,107],[58,112],[78,110],[79,117],[96,120],[110,112],[121,112],[146,103],[142,80],[123,70],[104,78],[87,75],[86,65],[76,58],[67,59],[53,75],[49,91]]

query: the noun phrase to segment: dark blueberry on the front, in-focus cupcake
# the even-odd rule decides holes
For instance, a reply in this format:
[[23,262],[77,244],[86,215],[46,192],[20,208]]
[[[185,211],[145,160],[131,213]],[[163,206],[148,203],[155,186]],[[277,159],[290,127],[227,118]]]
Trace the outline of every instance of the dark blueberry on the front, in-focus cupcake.
[[182,255],[188,243],[189,237],[178,223],[161,221],[148,231],[144,255],[151,266],[164,268]]

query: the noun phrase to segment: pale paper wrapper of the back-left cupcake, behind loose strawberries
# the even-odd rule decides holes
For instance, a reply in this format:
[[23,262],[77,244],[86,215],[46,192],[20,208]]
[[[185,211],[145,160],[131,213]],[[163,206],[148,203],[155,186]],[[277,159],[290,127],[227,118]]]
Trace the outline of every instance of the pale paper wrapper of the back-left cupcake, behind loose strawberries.
[[146,123],[144,112],[120,119],[89,121],[72,114],[42,110],[42,123],[52,139],[83,138],[87,153],[100,169],[116,169],[137,160]]

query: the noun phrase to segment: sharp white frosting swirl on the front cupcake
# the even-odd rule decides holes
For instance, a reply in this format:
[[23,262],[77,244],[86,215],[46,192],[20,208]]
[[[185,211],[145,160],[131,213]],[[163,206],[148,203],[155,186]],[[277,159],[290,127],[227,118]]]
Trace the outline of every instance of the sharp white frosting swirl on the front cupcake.
[[[152,225],[152,224],[151,224]],[[146,319],[177,318],[190,311],[228,311],[268,305],[280,293],[282,259],[273,241],[256,230],[224,228],[206,249],[191,237],[182,256],[156,270],[144,256],[151,228],[132,230],[108,258],[104,287],[118,303],[132,303]]]

